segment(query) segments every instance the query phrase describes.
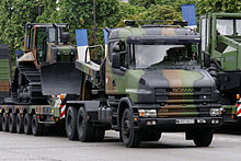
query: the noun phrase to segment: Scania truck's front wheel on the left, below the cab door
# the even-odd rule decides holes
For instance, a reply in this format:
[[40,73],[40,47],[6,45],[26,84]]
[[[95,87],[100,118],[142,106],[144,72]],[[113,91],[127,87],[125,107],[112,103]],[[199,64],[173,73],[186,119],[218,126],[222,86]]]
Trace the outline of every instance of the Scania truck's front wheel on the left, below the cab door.
[[134,129],[133,115],[129,108],[126,108],[122,117],[123,142],[127,148],[136,148],[140,145],[141,135],[139,130]]

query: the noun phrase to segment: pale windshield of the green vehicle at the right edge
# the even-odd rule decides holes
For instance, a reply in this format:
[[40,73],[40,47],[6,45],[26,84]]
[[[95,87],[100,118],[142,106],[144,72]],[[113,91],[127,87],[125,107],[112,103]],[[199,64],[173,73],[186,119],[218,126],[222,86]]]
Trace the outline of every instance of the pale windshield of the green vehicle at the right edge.
[[241,36],[241,19],[217,19],[217,32],[220,35]]

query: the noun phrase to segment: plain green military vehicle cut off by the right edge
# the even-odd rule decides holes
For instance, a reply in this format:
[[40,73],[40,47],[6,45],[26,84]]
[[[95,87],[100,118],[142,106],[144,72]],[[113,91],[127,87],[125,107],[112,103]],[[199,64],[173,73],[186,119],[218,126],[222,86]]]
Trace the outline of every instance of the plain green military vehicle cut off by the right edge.
[[241,88],[241,14],[203,15],[200,35],[204,66],[220,91],[219,103],[226,113],[226,119],[237,120],[237,116],[241,116],[236,115]]

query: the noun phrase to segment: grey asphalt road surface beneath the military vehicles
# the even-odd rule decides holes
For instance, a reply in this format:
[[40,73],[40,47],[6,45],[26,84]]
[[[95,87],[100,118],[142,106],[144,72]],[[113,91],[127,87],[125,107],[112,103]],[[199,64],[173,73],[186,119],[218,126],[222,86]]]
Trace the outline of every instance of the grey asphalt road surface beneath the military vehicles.
[[196,148],[183,133],[163,134],[158,142],[128,149],[118,134],[107,131],[104,142],[69,141],[64,136],[26,136],[0,131],[0,160],[78,161],[232,161],[241,158],[241,135],[216,134],[208,148]]

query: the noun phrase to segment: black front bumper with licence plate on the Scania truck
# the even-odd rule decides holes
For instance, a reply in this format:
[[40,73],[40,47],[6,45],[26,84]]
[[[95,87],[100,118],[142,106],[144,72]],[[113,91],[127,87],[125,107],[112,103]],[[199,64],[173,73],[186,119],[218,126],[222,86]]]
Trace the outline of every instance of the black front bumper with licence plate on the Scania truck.
[[[193,123],[181,123],[182,120],[192,120]],[[213,120],[218,123],[211,123]],[[156,120],[156,125],[148,125],[148,120]],[[205,122],[205,123],[204,123]],[[222,117],[176,117],[176,118],[138,118],[134,122],[136,129],[160,130],[160,131],[186,131],[202,128],[218,128],[222,125]]]

